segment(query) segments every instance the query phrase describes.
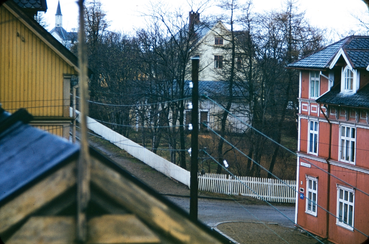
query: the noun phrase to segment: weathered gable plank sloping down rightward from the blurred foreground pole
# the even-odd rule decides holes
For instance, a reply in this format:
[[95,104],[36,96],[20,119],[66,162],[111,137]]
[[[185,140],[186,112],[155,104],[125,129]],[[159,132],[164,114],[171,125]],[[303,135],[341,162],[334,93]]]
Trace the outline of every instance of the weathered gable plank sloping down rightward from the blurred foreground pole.
[[161,229],[182,243],[220,243],[189,219],[168,208],[154,196],[95,158],[91,159],[91,181],[146,224]]

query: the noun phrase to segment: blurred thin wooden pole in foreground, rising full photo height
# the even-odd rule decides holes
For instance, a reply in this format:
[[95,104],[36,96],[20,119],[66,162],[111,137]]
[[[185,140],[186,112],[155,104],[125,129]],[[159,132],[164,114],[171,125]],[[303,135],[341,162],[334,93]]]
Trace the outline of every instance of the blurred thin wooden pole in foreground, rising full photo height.
[[77,241],[84,243],[87,239],[86,210],[90,200],[90,154],[87,142],[87,46],[84,18],[84,0],[78,0],[79,6],[79,34],[78,34],[78,64],[80,91],[80,126],[81,148],[77,166]]

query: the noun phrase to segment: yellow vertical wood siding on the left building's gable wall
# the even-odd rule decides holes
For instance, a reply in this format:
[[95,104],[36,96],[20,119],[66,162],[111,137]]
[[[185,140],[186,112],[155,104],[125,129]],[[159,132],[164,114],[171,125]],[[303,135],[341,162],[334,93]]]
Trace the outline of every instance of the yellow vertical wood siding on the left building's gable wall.
[[19,108],[27,108],[34,116],[63,116],[64,74],[76,74],[76,71],[1,6],[2,107],[11,113]]

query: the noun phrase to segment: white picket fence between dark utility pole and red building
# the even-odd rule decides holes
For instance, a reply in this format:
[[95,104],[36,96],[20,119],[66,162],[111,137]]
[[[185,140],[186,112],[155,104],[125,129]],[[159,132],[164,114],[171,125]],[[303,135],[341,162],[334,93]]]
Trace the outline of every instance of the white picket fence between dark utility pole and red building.
[[[228,177],[227,177],[228,176]],[[199,190],[227,195],[252,196],[268,202],[289,202],[296,200],[296,181],[237,177],[226,174],[199,174]]]

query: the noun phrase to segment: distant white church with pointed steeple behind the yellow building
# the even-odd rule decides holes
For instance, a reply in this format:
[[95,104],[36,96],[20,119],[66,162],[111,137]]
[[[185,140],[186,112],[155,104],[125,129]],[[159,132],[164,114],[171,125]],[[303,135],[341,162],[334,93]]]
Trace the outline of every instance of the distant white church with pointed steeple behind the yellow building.
[[76,42],[78,38],[77,32],[68,32],[63,28],[63,15],[59,1],[55,14],[55,27],[49,32],[68,49],[70,49],[70,46]]

